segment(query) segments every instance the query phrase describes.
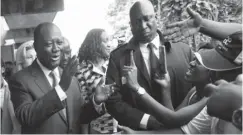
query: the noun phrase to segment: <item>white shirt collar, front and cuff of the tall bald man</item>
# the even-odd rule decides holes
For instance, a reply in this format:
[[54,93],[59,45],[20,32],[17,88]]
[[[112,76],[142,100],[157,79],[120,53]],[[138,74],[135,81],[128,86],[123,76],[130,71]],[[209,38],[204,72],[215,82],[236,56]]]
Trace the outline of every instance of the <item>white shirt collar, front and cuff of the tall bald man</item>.
[[[159,35],[156,35],[156,37],[151,41],[151,43],[154,44],[153,46],[153,51],[157,58],[159,59],[159,46],[160,46],[160,38]],[[149,75],[151,74],[151,67],[150,67],[150,49],[148,48],[149,43],[140,43],[139,47],[145,62],[145,65],[147,67],[147,71]],[[142,129],[147,129],[147,124],[149,120],[150,115],[149,114],[144,114],[141,121],[140,121],[140,128]]]

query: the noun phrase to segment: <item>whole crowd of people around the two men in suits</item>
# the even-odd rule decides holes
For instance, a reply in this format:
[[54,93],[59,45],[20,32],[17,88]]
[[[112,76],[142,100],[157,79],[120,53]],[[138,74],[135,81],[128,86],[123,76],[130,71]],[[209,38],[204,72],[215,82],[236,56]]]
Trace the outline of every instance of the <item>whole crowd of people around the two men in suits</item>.
[[[113,50],[92,29],[77,56],[55,24],[39,24],[7,81],[1,61],[1,133],[241,134],[242,26],[187,12],[160,31],[151,2],[137,1],[129,42]],[[222,44],[180,42],[198,32]]]

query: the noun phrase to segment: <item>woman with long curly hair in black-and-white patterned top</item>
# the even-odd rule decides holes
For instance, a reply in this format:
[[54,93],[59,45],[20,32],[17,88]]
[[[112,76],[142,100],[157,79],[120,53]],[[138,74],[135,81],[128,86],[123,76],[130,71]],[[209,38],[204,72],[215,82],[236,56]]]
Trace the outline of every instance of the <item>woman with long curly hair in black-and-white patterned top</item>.
[[[105,74],[107,69],[107,61],[109,54],[112,51],[110,45],[110,37],[103,29],[92,29],[86,35],[78,54],[80,67],[76,77],[79,80],[81,93],[86,102],[92,97],[95,92],[94,88],[98,85],[105,84]],[[108,94],[106,99],[110,95]],[[93,120],[89,125],[89,131],[86,133],[113,133],[113,119],[104,112],[105,107],[100,114],[101,117]],[[83,126],[84,127],[84,126]]]

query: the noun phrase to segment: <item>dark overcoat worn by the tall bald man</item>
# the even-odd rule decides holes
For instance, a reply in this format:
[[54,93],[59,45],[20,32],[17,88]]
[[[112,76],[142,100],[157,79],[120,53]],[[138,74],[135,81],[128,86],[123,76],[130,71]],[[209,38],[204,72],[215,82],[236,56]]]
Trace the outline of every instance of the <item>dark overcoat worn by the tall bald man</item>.
[[[184,75],[192,60],[190,47],[183,43],[171,44],[163,42],[163,37],[158,31],[161,44],[165,45],[167,56],[167,67],[171,78],[171,94],[174,106],[177,106],[186,96],[192,87],[191,84],[184,81]],[[120,124],[139,128],[140,121],[144,113],[150,113],[149,107],[145,106],[136,93],[122,85],[122,68],[129,62],[130,51],[134,50],[134,60],[138,68],[138,83],[154,99],[161,103],[161,92],[158,85],[151,81],[148,74],[142,53],[138,42],[133,39],[126,45],[119,47],[111,53],[109,66],[107,70],[106,83],[116,82],[120,86],[120,91],[113,94],[106,102],[108,112],[112,114]]]

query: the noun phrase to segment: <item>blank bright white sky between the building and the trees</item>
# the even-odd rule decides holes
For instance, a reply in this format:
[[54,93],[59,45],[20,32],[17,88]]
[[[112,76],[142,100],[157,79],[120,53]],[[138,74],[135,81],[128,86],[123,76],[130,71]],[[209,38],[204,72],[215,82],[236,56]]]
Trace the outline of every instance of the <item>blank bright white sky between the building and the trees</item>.
[[110,34],[112,27],[105,15],[113,0],[64,0],[64,11],[58,12],[53,22],[63,35],[70,40],[72,53],[76,54],[87,32],[103,28]]

